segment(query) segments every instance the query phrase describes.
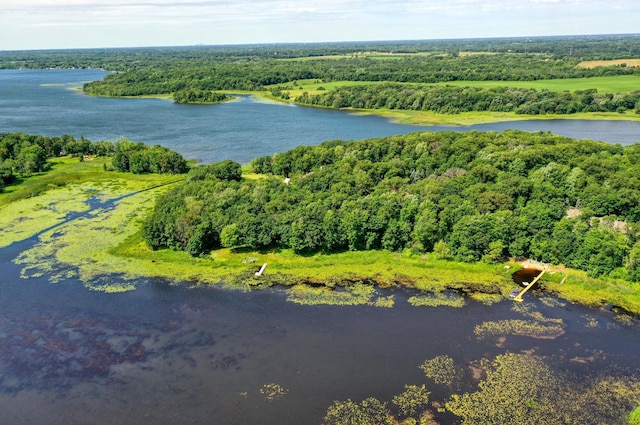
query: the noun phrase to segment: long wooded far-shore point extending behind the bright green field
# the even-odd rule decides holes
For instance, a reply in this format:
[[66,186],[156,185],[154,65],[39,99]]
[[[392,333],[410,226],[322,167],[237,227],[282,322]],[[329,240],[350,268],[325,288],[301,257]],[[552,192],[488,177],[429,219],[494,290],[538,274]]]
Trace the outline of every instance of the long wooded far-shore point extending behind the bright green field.
[[577,66],[578,59],[512,53],[458,56],[367,56],[337,59],[228,58],[207,61],[151,62],[144,67],[107,75],[84,85],[100,96],[172,94],[181,90],[266,90],[265,86],[296,80],[438,83],[448,81],[531,81],[557,78],[639,74],[640,68]]

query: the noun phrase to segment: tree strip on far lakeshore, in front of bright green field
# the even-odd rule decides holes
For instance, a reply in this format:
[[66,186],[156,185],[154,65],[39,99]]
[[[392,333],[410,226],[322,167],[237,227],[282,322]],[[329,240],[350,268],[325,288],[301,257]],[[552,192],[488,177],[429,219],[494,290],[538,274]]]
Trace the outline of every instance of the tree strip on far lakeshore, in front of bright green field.
[[[277,94],[283,98],[289,96],[287,91]],[[444,114],[495,111],[538,115],[629,110],[640,113],[640,90],[613,95],[598,93],[596,89],[555,92],[513,87],[368,84],[337,87],[315,95],[303,92],[295,101],[331,108],[405,109]]]

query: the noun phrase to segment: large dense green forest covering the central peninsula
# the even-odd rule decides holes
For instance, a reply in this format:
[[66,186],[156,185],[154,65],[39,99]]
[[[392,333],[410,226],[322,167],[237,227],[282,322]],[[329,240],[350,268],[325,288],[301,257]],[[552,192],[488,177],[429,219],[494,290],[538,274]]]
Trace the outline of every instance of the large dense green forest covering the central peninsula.
[[332,141],[256,158],[261,179],[231,161],[196,167],[143,234],[193,255],[410,249],[640,280],[639,160],[640,145],[519,131]]

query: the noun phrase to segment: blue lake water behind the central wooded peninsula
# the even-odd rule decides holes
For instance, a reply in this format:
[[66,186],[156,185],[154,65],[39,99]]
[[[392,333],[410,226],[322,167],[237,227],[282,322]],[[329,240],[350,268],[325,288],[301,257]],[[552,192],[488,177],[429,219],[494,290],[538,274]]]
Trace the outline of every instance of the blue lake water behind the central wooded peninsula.
[[520,129],[623,145],[640,141],[640,121],[524,120],[421,127],[376,116],[266,103],[246,96],[220,105],[178,105],[159,99],[97,98],[73,90],[104,75],[100,70],[0,71],[0,132],[70,134],[93,141],[123,136],[160,144],[205,163],[222,159],[245,163],[298,145],[422,130]]

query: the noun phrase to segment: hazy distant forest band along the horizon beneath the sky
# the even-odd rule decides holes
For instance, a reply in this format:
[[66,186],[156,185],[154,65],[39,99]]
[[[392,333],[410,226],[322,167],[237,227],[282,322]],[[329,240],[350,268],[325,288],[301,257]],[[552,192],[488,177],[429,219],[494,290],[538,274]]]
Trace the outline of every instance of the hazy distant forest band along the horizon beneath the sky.
[[0,51],[0,69],[101,68],[131,71],[150,63],[209,63],[238,58],[313,58],[354,55],[358,52],[395,54],[460,52],[546,55],[554,59],[609,60],[638,57],[634,34],[470,38],[455,40],[402,40],[318,43],[276,43],[214,46],[94,48]]

